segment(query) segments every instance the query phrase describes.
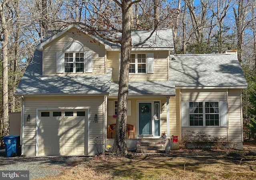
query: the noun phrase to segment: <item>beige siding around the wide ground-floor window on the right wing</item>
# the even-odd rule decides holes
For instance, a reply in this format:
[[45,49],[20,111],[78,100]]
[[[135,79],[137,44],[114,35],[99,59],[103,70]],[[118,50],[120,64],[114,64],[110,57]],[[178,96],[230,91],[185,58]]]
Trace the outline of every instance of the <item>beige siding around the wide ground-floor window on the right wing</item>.
[[[182,137],[188,136],[193,131],[212,136],[225,136],[232,142],[242,142],[240,95],[241,89],[182,89],[181,101],[227,101],[228,105],[228,127],[182,127]],[[180,112],[177,114],[180,115]]]

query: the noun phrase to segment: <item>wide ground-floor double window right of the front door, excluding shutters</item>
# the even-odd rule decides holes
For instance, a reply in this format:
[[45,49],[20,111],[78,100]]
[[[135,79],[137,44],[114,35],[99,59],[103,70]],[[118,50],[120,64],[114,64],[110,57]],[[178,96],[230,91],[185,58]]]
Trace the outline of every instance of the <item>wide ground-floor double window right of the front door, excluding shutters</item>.
[[189,102],[189,125],[219,126],[219,104],[218,101]]

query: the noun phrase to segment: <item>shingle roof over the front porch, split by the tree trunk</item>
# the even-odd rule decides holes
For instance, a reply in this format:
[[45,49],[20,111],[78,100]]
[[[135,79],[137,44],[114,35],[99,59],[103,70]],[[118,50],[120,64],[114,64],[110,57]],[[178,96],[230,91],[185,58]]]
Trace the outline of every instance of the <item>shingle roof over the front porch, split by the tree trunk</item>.
[[[172,81],[129,81],[128,95],[175,95]],[[118,82],[111,82],[110,95],[118,95]]]

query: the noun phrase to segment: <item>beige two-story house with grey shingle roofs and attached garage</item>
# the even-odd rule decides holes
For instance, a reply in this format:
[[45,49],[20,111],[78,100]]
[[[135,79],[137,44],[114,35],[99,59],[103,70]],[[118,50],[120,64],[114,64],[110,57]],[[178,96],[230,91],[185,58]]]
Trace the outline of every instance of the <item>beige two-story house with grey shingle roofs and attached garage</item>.
[[[134,30],[132,43],[150,32]],[[181,140],[192,131],[242,147],[241,93],[247,84],[236,55],[173,50],[172,30],[157,30],[132,49],[127,124],[135,132],[128,148],[162,139],[162,133],[168,142],[172,135]],[[38,45],[15,93],[22,97],[22,154],[92,155],[112,144],[107,127],[116,123],[119,62],[119,44],[78,26]]]

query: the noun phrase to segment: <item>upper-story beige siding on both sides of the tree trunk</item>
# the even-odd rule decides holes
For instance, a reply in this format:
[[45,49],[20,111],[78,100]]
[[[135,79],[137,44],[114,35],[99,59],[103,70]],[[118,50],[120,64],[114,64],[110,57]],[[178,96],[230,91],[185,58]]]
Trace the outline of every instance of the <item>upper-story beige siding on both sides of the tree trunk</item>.
[[[153,74],[129,74],[130,81],[157,81],[168,80],[168,51],[132,51],[132,53],[154,52]],[[112,81],[119,81],[119,53],[120,51],[108,51],[108,67],[113,67]]]

